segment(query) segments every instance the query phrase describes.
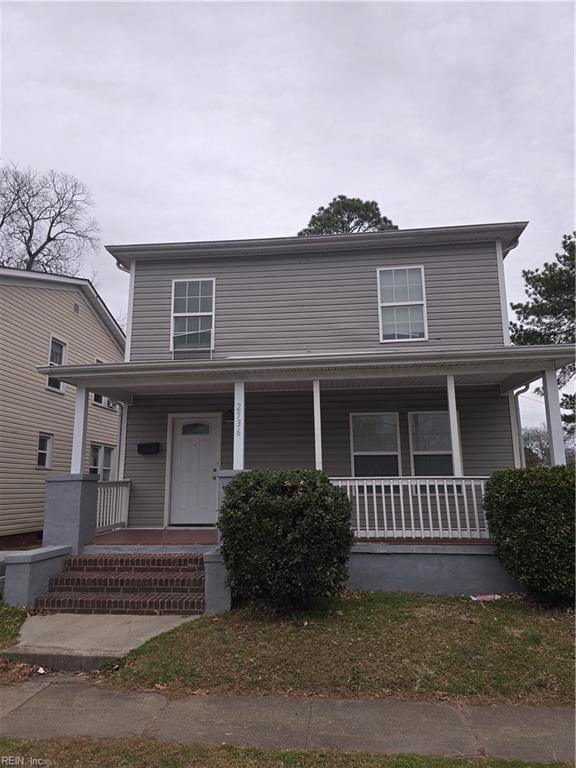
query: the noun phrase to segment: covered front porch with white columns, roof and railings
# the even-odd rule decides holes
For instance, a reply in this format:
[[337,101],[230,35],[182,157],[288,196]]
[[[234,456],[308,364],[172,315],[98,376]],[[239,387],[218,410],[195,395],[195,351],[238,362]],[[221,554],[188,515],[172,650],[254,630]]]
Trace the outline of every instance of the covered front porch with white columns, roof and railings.
[[[77,388],[73,474],[83,469],[88,393],[125,403],[119,476],[98,484],[100,531],[208,534],[236,472],[294,467],[322,470],[347,493],[360,540],[479,542],[489,539],[485,481],[523,466],[514,393],[524,384],[543,378],[552,462],[565,462],[556,370],[570,356],[504,347],[77,366],[58,376]],[[186,455],[196,457],[192,472]],[[192,497],[199,518],[186,517]]]

